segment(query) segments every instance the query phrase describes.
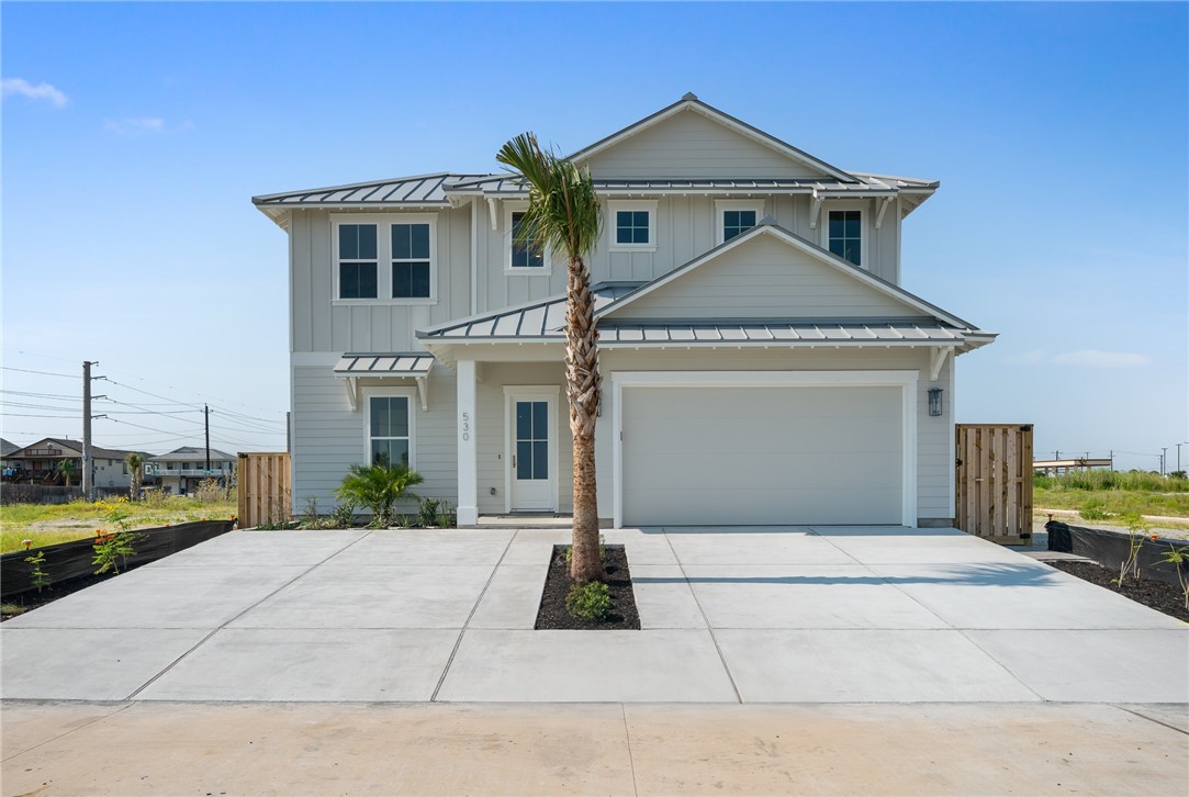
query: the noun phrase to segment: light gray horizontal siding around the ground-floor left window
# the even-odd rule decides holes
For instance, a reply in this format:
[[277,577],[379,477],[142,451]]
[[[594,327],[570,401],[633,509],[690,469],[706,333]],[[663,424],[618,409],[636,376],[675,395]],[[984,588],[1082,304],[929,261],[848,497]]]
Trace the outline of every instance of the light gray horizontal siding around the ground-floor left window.
[[[335,503],[334,490],[351,465],[367,460],[366,413],[360,400],[352,410],[345,381],[332,371],[338,354],[327,353],[325,365],[292,368],[292,462],[294,512],[302,512],[310,498],[322,510]],[[371,387],[413,388],[411,379],[360,379],[360,393]],[[414,413],[414,459],[424,483],[414,488],[419,495],[458,503],[458,443],[454,409],[454,374],[445,366],[429,375],[429,409],[421,409],[416,397]],[[407,510],[407,509],[404,509]]]

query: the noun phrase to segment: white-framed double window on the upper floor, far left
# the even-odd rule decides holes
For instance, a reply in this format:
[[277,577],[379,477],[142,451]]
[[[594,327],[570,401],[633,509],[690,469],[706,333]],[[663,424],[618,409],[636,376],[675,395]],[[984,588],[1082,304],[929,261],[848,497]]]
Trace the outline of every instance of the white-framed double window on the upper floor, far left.
[[335,300],[433,301],[433,215],[352,214],[332,220]]

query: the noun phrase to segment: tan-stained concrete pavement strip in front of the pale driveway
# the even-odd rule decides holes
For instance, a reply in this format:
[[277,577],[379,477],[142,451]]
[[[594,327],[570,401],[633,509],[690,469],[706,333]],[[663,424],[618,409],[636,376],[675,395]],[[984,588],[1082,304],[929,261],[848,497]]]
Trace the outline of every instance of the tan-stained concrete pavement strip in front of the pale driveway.
[[10,703],[2,776],[6,795],[1184,795],[1187,732],[1183,707],[1102,704]]

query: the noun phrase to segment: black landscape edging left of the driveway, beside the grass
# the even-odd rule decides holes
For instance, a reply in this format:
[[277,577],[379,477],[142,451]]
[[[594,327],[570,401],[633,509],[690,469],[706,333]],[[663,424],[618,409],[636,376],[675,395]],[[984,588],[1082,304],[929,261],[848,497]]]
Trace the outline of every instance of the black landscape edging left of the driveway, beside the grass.
[[[136,533],[144,536],[136,542],[137,553],[128,557],[127,564],[130,566],[143,565],[164,559],[171,553],[184,551],[199,542],[226,534],[234,526],[235,521],[233,520],[199,520],[176,526],[137,529]],[[25,559],[38,552],[45,556],[42,570],[48,575],[51,584],[61,584],[94,575],[94,539],[74,540],[0,556],[0,597],[7,598],[37,589],[32,579],[33,566]],[[124,570],[122,560],[120,570]]]

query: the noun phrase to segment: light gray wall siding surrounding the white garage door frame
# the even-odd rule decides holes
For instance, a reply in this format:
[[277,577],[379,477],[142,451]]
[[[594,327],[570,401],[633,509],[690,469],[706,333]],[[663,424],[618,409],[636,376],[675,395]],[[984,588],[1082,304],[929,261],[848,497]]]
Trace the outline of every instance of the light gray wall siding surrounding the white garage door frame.
[[[929,381],[929,351],[925,349],[855,350],[624,350],[604,349],[599,354],[604,385],[615,371],[879,371],[917,370],[917,515],[933,525],[954,517],[954,422],[950,388],[952,359],[946,360],[937,382]],[[929,389],[942,388],[943,414],[929,415]],[[599,517],[612,516],[611,476],[615,396],[603,391],[603,418],[596,427],[596,457],[599,472]],[[603,475],[608,476],[604,477]],[[729,498],[726,498],[729,500]]]

